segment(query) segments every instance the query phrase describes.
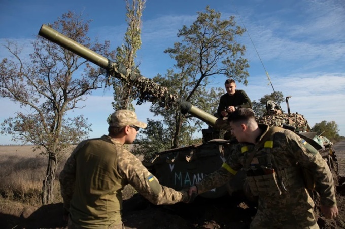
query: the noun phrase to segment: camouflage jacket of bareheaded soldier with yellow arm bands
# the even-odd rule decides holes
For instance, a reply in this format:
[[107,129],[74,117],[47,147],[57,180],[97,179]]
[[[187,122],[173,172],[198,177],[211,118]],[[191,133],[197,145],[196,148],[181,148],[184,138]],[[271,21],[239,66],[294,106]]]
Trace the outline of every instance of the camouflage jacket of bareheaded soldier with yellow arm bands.
[[[271,147],[262,147],[262,140],[268,131],[268,126],[259,124],[263,134],[257,139],[257,144],[239,143],[232,146],[229,158],[222,167],[214,173],[206,176],[197,184],[198,192],[205,192],[214,187],[225,184],[240,169],[247,170],[247,176],[263,176],[265,172],[272,169],[277,173],[277,201],[282,202],[287,195],[281,195],[286,192],[300,193],[299,198],[304,202],[309,202],[310,208],[313,203],[302,185],[301,167],[310,170],[316,182],[316,189],[321,197],[321,204],[326,206],[336,205],[333,177],[319,152],[307,144],[297,134],[290,130],[281,129],[269,136]],[[255,151],[254,157],[248,162],[251,152]],[[269,151],[269,152],[268,152]],[[267,154],[271,154],[271,159],[267,159]],[[289,177],[284,171],[290,171]],[[284,175],[284,177],[283,177]],[[270,202],[272,193],[258,192],[259,199],[267,199]],[[287,200],[284,200],[285,202]],[[275,203],[272,203],[275,204]],[[268,207],[268,206],[267,206]]]

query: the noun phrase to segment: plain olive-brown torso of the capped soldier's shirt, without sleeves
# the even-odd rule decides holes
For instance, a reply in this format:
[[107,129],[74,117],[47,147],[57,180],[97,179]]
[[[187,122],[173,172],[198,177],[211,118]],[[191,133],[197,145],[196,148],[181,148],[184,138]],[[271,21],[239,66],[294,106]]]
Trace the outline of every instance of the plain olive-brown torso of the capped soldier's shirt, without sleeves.
[[76,152],[75,192],[70,207],[73,223],[83,228],[121,223],[125,184],[117,171],[120,147],[103,137],[90,140]]

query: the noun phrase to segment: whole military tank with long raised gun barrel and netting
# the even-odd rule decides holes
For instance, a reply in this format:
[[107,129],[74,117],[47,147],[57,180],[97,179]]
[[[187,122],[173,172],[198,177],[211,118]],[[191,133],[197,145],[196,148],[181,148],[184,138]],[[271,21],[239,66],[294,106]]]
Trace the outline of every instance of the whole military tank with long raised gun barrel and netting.
[[[151,79],[131,71],[123,64],[112,62],[47,25],[42,25],[39,35],[106,69],[109,75],[135,86],[138,89],[139,102],[150,101],[158,103],[162,107],[179,106],[183,113],[190,113],[209,125],[208,129],[202,130],[203,143],[157,152],[154,159],[143,162],[162,185],[176,190],[193,186],[204,176],[219,169],[228,156],[226,149],[231,144],[236,144],[234,140],[218,138],[219,135],[224,136],[226,130],[219,131],[219,129],[215,128],[217,121],[215,116],[202,111],[176,95],[170,94],[167,88],[156,84]],[[310,127],[303,115],[290,113],[289,108],[288,114],[284,114],[280,106],[273,101],[267,102],[266,109],[266,114],[262,117],[257,117],[258,123],[282,126],[295,131],[303,136],[308,143],[317,148],[319,152],[323,152],[323,156],[325,155],[324,158],[331,168],[332,166],[335,167],[335,152],[330,150],[329,147],[323,148],[313,140],[315,134],[311,137]],[[219,134],[219,132],[223,134]],[[324,149],[327,150],[324,151]],[[245,173],[238,172],[230,184],[206,192],[201,196],[205,198],[218,198],[227,194],[231,195],[236,191],[242,190],[244,180]]]

